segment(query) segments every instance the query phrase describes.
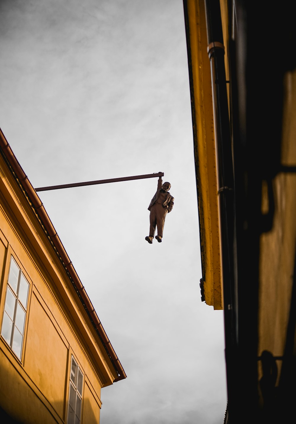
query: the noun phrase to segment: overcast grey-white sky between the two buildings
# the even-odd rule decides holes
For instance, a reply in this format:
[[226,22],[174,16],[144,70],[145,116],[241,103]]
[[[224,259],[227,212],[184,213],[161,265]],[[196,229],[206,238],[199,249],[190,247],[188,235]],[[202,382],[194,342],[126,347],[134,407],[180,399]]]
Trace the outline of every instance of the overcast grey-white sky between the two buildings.
[[127,374],[102,389],[101,424],[223,423],[182,0],[0,0],[0,16],[0,126],[33,187],[159,171],[172,184],[152,245],[157,179],[39,192]]

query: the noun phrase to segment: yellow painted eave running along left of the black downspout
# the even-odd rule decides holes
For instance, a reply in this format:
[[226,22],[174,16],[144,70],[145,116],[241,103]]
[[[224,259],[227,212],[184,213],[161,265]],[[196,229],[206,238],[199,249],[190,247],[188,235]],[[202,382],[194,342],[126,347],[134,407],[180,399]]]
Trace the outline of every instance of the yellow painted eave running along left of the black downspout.
[[188,25],[192,70],[194,149],[198,183],[199,226],[205,302],[223,309],[221,246],[217,187],[216,144],[214,135],[210,61],[204,2],[188,0]]

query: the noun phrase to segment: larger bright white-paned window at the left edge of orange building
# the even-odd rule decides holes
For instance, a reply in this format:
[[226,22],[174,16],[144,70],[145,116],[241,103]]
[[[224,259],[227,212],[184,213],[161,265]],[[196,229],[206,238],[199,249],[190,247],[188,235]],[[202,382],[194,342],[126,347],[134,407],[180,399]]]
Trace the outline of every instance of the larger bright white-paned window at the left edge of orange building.
[[11,256],[1,335],[21,360],[29,283]]

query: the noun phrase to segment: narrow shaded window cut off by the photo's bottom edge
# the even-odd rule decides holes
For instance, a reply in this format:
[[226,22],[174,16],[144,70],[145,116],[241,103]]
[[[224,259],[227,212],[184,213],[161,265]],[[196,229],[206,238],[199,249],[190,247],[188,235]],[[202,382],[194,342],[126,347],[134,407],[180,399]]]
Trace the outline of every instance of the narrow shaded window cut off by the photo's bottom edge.
[[83,373],[71,357],[71,375],[69,385],[68,424],[79,424],[81,420]]

